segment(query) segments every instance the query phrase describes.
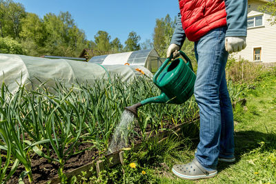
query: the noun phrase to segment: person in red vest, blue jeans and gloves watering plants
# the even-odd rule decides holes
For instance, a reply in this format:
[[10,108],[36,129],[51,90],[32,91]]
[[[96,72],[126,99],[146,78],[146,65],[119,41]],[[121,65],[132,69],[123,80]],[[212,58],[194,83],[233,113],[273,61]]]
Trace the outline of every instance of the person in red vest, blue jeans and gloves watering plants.
[[233,110],[226,84],[228,53],[246,47],[246,0],[179,0],[180,13],[167,57],[177,55],[185,39],[195,42],[199,106],[199,144],[195,159],[174,165],[179,178],[197,180],[217,175],[217,162],[235,161]]

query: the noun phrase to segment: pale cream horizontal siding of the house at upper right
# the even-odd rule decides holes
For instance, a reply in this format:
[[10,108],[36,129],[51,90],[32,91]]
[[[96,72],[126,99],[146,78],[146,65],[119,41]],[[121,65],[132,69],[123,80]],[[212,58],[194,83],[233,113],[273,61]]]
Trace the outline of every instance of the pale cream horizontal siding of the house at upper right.
[[[248,1],[248,17],[263,14],[258,10],[264,3],[261,1]],[[276,62],[276,25],[270,25],[267,19],[269,14],[264,14],[263,25],[259,28],[248,28],[246,48],[233,54],[236,59],[244,58],[253,61],[253,48],[262,48],[261,61],[264,63]]]

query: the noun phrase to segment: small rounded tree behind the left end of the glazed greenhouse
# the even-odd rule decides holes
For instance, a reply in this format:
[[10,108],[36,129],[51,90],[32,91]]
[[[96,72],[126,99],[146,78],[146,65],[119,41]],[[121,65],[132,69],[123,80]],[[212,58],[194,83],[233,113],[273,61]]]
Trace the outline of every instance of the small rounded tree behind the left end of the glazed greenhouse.
[[108,54],[111,49],[110,35],[108,32],[99,30],[95,35],[96,52],[97,54]]

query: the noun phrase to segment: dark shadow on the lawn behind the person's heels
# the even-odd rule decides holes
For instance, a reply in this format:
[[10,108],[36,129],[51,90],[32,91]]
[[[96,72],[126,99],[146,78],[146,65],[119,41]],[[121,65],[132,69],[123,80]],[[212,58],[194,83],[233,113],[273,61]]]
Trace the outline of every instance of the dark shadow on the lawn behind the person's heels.
[[218,170],[224,170],[230,165],[239,162],[246,153],[259,149],[258,152],[273,152],[276,150],[276,132],[239,131],[235,132],[235,157],[234,163],[219,162]]

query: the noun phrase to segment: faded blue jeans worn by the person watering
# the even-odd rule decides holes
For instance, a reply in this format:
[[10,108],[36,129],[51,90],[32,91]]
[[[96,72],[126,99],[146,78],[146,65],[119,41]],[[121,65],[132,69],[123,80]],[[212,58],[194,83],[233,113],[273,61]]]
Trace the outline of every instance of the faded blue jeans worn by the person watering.
[[233,110],[225,76],[226,30],[226,27],[211,30],[195,42],[198,64],[195,100],[200,115],[200,141],[195,158],[208,169],[216,168],[219,155],[234,156]]

